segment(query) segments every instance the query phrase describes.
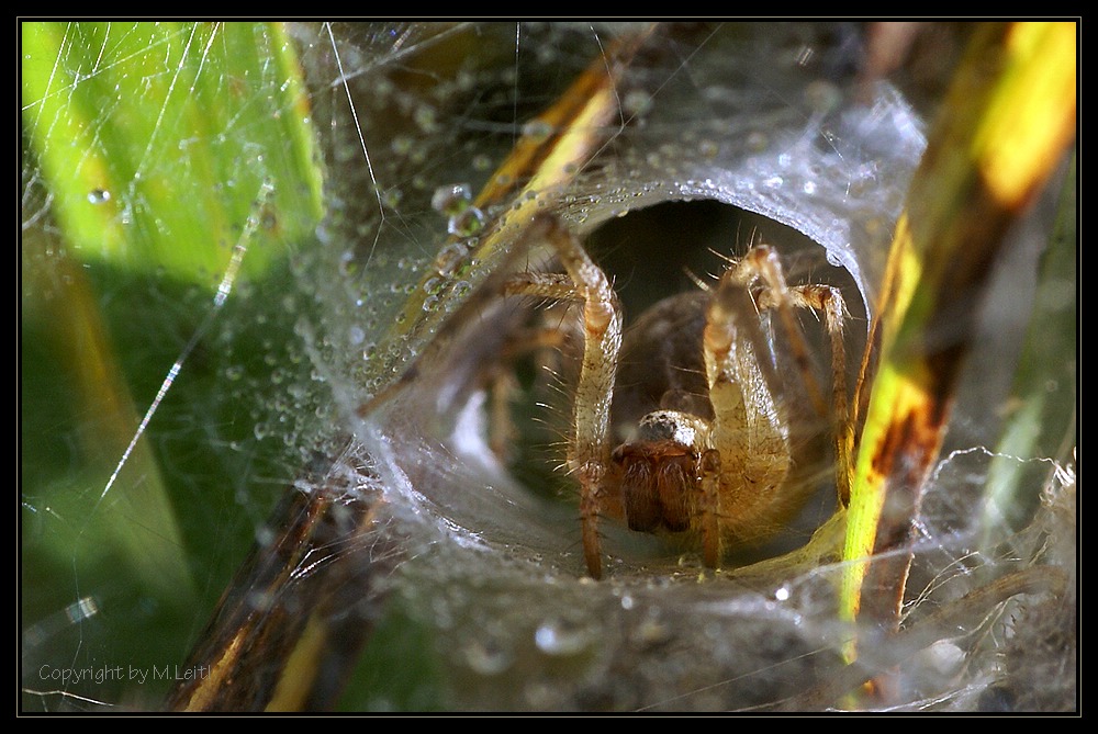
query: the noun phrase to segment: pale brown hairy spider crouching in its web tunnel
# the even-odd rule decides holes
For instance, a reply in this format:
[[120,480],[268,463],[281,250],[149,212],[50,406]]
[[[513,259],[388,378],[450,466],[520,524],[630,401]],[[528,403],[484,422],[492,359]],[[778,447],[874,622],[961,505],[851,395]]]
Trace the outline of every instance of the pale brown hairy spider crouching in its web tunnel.
[[[565,272],[513,275],[505,295],[582,305],[567,466],[580,485],[590,576],[602,576],[603,517],[637,531],[692,533],[713,568],[728,549],[772,535],[815,492],[795,477],[797,420],[805,403],[819,415],[828,403],[795,308],[821,314],[830,339],[836,484],[845,501],[853,433],[838,289],[787,285],[776,252],[755,244],[728,259],[715,285],[660,302],[624,332],[610,281],[568,228],[541,215],[527,236],[549,244]],[[794,370],[773,362],[768,312],[777,315]]]

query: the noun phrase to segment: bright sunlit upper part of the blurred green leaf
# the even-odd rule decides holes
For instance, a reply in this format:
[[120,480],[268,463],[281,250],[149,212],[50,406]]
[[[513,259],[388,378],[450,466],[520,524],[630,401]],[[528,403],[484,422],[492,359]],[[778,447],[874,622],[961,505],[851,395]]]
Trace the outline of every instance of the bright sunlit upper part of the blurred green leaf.
[[22,41],[24,128],[80,259],[215,286],[265,180],[280,236],[251,248],[247,272],[320,216],[280,25],[24,23]]

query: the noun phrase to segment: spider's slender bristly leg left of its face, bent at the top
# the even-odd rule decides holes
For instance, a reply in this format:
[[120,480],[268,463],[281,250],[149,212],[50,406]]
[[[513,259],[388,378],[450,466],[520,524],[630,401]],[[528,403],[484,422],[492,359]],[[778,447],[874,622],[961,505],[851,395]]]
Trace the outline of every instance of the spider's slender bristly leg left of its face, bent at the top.
[[530,241],[552,246],[568,275],[524,273],[507,282],[507,295],[535,295],[583,304],[583,361],[572,405],[568,467],[580,482],[583,556],[587,573],[602,576],[598,515],[608,501],[610,467],[610,403],[618,352],[621,309],[606,274],[583,246],[554,217],[539,216],[527,233]]

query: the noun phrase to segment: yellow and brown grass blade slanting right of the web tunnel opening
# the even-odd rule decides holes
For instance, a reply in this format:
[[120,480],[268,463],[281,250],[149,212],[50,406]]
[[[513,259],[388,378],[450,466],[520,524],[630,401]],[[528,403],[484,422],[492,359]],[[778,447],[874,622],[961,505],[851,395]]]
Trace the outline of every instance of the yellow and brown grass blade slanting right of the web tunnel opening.
[[979,27],[931,132],[873,326],[879,369],[843,551],[848,619],[898,624],[911,523],[970,348],[973,301],[1007,228],[1075,136],[1076,33],[1073,23]]

